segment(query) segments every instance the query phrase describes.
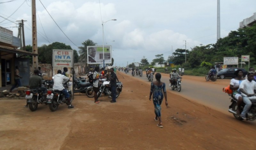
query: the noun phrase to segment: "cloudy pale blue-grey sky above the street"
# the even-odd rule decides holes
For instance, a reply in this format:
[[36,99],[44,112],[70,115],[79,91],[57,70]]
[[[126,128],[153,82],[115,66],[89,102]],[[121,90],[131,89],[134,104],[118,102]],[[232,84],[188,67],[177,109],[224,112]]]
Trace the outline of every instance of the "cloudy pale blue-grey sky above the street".
[[[255,0],[220,0],[221,38],[251,17],[255,6]],[[0,10],[0,26],[13,36],[17,21],[26,20],[25,43],[32,45],[31,0],[0,0]],[[167,60],[178,48],[217,41],[217,0],[36,0],[36,11],[38,46],[61,42],[78,51],[87,39],[99,46],[104,41],[120,67],[142,58],[152,62],[159,54]]]

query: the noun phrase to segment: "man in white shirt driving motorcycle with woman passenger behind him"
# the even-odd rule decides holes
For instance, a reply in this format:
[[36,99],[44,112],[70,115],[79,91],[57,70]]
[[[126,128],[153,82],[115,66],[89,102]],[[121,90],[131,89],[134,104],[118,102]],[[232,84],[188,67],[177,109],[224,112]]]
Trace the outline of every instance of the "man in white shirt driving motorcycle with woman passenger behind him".
[[253,81],[254,72],[249,71],[247,74],[247,79],[245,79],[240,85],[239,89],[241,91],[243,102],[245,103],[244,110],[241,113],[241,117],[246,119],[246,114],[251,108],[250,98],[256,93],[256,82]]

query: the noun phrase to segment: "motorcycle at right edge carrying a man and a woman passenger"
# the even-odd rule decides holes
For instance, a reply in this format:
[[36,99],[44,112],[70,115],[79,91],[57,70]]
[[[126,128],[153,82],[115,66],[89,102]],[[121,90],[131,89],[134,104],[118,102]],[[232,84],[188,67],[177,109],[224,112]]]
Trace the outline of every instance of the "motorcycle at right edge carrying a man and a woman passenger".
[[[232,94],[229,94],[229,95],[231,96],[231,98],[230,98],[231,105],[229,106],[229,112],[231,112],[237,120],[244,120],[241,117],[241,115],[238,115],[236,113],[236,109],[238,109],[236,98],[234,98]],[[253,97],[254,98],[251,100],[251,102],[252,102],[251,108],[246,114],[246,120],[249,120],[249,121],[254,121],[256,119],[256,96],[253,96]],[[242,104],[240,106],[240,112],[243,112],[244,106],[245,106],[245,103],[242,102]]]

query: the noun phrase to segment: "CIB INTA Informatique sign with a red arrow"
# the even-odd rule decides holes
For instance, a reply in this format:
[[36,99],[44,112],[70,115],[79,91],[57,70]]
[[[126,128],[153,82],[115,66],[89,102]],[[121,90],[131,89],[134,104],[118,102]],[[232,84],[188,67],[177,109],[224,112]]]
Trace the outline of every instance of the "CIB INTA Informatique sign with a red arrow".
[[73,50],[53,49],[52,54],[53,67],[73,66]]

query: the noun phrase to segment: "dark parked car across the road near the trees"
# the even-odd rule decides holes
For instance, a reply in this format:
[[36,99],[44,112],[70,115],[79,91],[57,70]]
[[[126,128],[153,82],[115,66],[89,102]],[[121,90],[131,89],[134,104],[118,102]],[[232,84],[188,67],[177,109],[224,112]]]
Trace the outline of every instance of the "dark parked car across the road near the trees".
[[221,71],[217,72],[217,78],[235,78],[236,75],[234,75],[236,70],[241,69],[243,71],[244,77],[247,75],[247,71],[244,68],[225,68]]

